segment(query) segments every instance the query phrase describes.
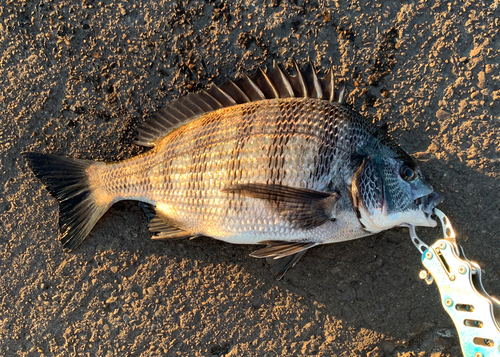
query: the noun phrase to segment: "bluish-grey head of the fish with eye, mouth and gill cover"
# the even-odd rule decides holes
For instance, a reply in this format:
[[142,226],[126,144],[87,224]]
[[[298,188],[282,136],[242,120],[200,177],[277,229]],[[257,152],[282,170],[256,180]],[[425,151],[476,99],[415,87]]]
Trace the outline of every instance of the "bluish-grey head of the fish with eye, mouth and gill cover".
[[352,179],[351,195],[359,221],[372,233],[410,225],[435,227],[431,215],[442,201],[407,155],[364,157]]

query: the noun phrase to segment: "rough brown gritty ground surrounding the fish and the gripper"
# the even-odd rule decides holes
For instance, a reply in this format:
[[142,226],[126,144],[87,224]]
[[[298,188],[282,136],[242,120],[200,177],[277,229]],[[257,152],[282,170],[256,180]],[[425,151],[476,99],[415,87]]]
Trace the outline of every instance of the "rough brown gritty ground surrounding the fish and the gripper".
[[169,99],[273,59],[333,63],[500,296],[499,18],[498,0],[1,1],[0,354],[459,356],[405,229],[313,249],[275,281],[252,246],[151,241],[125,202],[68,254],[20,153],[127,158]]

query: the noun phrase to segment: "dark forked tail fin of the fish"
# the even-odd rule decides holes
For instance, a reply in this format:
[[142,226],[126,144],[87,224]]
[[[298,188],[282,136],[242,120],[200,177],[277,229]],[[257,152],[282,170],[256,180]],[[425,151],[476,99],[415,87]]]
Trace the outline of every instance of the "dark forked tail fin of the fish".
[[56,155],[23,153],[33,173],[59,201],[59,232],[62,246],[77,248],[111,204],[95,200],[87,169],[104,165],[89,160],[75,160]]

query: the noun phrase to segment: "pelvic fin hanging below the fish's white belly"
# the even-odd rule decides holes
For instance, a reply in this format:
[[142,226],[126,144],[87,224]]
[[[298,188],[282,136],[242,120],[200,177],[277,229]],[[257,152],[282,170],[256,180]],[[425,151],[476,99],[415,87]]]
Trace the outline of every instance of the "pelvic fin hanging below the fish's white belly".
[[317,245],[315,242],[283,242],[283,241],[263,241],[266,248],[259,249],[252,254],[254,258],[268,258],[271,263],[271,272],[276,279],[283,278],[288,269],[292,268],[302,258],[304,253]]

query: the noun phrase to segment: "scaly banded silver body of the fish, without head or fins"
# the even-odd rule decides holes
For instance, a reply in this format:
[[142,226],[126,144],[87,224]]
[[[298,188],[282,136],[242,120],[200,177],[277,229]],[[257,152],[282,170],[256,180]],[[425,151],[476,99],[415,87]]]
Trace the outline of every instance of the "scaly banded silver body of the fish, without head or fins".
[[[363,236],[350,202],[353,172],[346,165],[361,144],[350,140],[362,130],[349,120],[353,114],[310,98],[220,109],[178,128],[144,155],[100,167],[95,187],[102,191],[96,194],[148,202],[173,226],[231,243],[329,243]],[[227,191],[248,183],[339,192],[341,198],[329,222],[303,229],[293,212],[289,217],[267,200]],[[341,212],[345,218],[338,219]]]

